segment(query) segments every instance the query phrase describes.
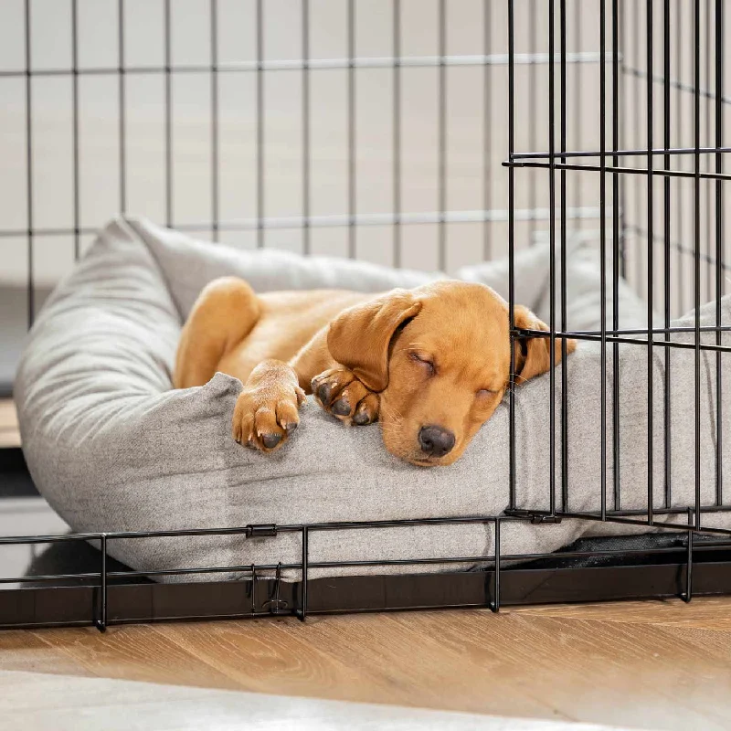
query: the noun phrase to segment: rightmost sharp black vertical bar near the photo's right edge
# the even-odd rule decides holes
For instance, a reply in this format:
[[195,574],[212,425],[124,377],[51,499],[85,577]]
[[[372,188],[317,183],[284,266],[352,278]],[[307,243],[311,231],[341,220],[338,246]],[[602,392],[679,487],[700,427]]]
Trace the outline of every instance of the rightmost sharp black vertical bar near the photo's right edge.
[[[724,135],[724,0],[715,0],[715,146],[723,147]],[[715,172],[724,172],[723,155],[715,154]],[[715,182],[715,326],[721,326],[721,297],[724,271],[724,217],[723,184]],[[721,344],[721,330],[715,331],[715,344]],[[715,504],[724,503],[724,411],[723,384],[721,381],[721,351],[715,352]]]

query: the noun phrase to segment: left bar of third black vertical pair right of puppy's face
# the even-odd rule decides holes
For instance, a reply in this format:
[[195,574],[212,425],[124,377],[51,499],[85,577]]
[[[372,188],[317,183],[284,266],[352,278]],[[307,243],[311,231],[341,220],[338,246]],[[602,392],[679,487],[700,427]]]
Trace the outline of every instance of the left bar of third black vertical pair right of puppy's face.
[[647,517],[648,522],[652,525],[654,520],[654,484],[652,474],[652,458],[653,458],[653,363],[654,354],[653,334],[652,334],[652,314],[653,298],[654,298],[654,262],[653,251],[655,248],[655,239],[653,236],[654,226],[654,190],[652,181],[652,125],[654,123],[654,115],[652,108],[652,5],[654,0],[647,0]]

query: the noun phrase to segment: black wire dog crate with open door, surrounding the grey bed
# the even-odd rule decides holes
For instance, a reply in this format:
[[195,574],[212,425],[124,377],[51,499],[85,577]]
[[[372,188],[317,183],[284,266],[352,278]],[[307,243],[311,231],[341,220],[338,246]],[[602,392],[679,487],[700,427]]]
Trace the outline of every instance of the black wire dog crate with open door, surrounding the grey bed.
[[[16,68],[11,62],[0,70],[0,84],[16,84],[22,107],[22,131],[18,132],[22,145],[16,147],[25,186],[10,196],[16,205],[6,217],[20,220],[22,225],[0,222],[0,241],[7,245],[10,269],[16,267],[23,273],[28,325],[33,323],[42,298],[39,271],[46,254],[39,259],[39,250],[43,251],[48,241],[55,241],[52,249],[57,254],[58,249],[65,248],[69,261],[77,259],[101,223],[89,213],[90,184],[84,180],[84,161],[90,150],[84,136],[88,122],[85,95],[93,93],[96,79],[108,82],[113,96],[108,132],[113,132],[116,141],[111,145],[115,158],[111,166],[116,196],[113,203],[124,212],[136,195],[135,181],[149,173],[149,168],[144,168],[142,174],[134,169],[140,153],[133,141],[135,107],[131,100],[137,94],[133,90],[140,79],[154,79],[153,93],[161,92],[156,97],[161,112],[159,144],[155,147],[159,164],[154,165],[157,187],[153,200],[157,209],[143,212],[167,225],[210,234],[214,241],[255,247],[270,246],[275,232],[286,234],[285,243],[304,254],[341,253],[395,266],[415,266],[416,262],[420,268],[440,270],[453,270],[466,260],[487,260],[503,254],[512,262],[516,250],[527,246],[536,233],[546,233],[552,252],[549,332],[515,329],[513,272],[512,331],[514,337],[531,334],[549,338],[552,354],[565,347],[568,337],[599,342],[602,383],[598,418],[602,434],[598,455],[601,479],[596,489],[600,491],[601,509],[570,509],[566,479],[570,467],[565,418],[567,376],[565,369],[559,375],[552,367],[547,376],[552,394],[550,432],[560,439],[550,440],[552,469],[547,509],[516,509],[515,396],[511,389],[511,480],[505,485],[503,514],[423,521],[249,524],[226,529],[0,537],[0,550],[8,546],[89,542],[100,549],[97,565],[74,573],[2,578],[13,588],[0,594],[0,625],[93,622],[103,630],[115,622],[287,614],[304,619],[314,613],[388,609],[497,610],[505,604],[672,596],[690,600],[694,595],[731,593],[731,529],[705,522],[705,516],[727,510],[721,372],[723,355],[729,350],[722,344],[722,334],[731,330],[731,325],[722,324],[720,304],[726,291],[723,183],[728,175],[724,173],[723,158],[731,151],[724,146],[724,111],[728,104],[724,86],[726,0],[475,0],[461,4],[461,9],[448,0],[419,2],[418,9],[408,0],[348,0],[335,4],[335,40],[328,48],[340,48],[340,55],[330,58],[318,56],[314,43],[314,16],[335,8],[333,4],[327,6],[325,0],[319,4],[302,0],[297,5],[299,15],[289,38],[290,45],[293,39],[298,40],[294,44],[299,48],[298,55],[293,58],[270,58],[267,53],[271,40],[268,14],[273,12],[273,5],[265,8],[262,0],[249,5],[208,0],[198,5],[207,23],[207,43],[201,52],[207,58],[191,62],[175,58],[176,29],[184,35],[187,32],[181,5],[163,0],[146,4],[148,9],[143,10],[143,5],[133,0],[118,0],[108,4],[114,43],[111,50],[104,49],[111,56],[102,63],[90,62],[84,52],[83,29],[90,22],[84,18],[92,12],[90,5],[70,0],[68,53],[52,67],[43,66],[34,57],[34,24],[40,12],[36,3],[25,0],[16,5],[14,28],[23,28],[23,33],[16,35],[25,39],[22,58]],[[155,27],[162,32],[158,38],[159,58],[131,60],[132,20],[137,13],[149,13],[153,5],[159,13]],[[322,5],[319,11],[318,5]],[[419,50],[424,46],[423,39],[408,36],[410,26],[406,21],[407,17],[413,20],[427,15],[425,5],[433,15],[429,54]],[[248,23],[249,57],[244,54],[246,58],[229,60],[228,27],[233,24],[227,14],[234,12],[244,12]],[[467,24],[469,33],[458,34],[455,40],[450,29],[460,13],[462,19],[479,16],[480,22]],[[368,48],[368,39],[359,33],[361,24],[375,29],[374,37],[380,46],[373,48],[379,52],[361,52],[361,48]],[[453,52],[460,50],[452,48],[459,45],[458,41],[469,52]],[[417,52],[411,53],[406,47]],[[318,74],[330,75],[323,87],[318,86]],[[273,79],[281,76],[291,82],[290,91],[297,89],[296,100],[291,103],[299,106],[293,136],[284,143],[283,132],[277,126],[279,112],[268,107],[272,85],[280,83]],[[45,103],[39,94],[48,91],[43,84],[49,79],[62,84],[61,91],[54,93],[70,92],[69,123],[65,128],[69,132],[69,154],[63,170],[57,173],[68,192],[68,196],[61,196],[62,209],[49,207],[42,185],[39,188],[44,178],[43,165],[48,164],[43,156],[53,144],[43,135],[48,134],[48,128],[53,131],[54,124],[48,125],[44,118],[44,126],[36,117]],[[205,79],[205,83],[184,92],[185,82],[181,79]],[[246,149],[238,152],[229,139],[232,125],[225,112],[227,79],[236,79],[249,90],[249,103],[245,105],[248,116],[233,125],[248,140]],[[342,154],[336,156],[338,172],[332,175],[329,187],[323,185],[330,193],[339,191],[339,208],[323,210],[318,197],[322,180],[318,176],[323,175],[323,167],[332,167],[332,159],[318,146],[322,140],[318,138],[318,123],[313,120],[317,116],[317,95],[325,93],[335,79],[340,86],[334,91],[333,107],[328,113],[332,117],[330,112],[336,110],[338,122],[333,123],[340,127]],[[90,82],[92,85],[85,87]],[[423,98],[410,100],[412,87],[420,89],[428,103]],[[364,114],[362,108],[368,107],[364,99],[370,99],[372,106],[373,95],[378,93],[387,114],[376,115],[376,120]],[[205,123],[199,123],[197,112],[191,112],[193,122],[187,127],[181,124],[176,94],[190,94],[200,108],[205,108]],[[291,94],[285,90],[282,96]],[[417,107],[416,114],[410,111],[411,102]],[[425,103],[429,122],[422,119]],[[461,107],[462,117],[454,114],[460,104],[465,105]],[[384,118],[387,124],[381,123],[374,131],[376,122]],[[416,118],[422,127],[427,125],[427,132],[411,129],[409,125]],[[450,134],[450,129],[456,134]],[[332,130],[325,125],[325,136],[330,134]],[[197,167],[186,162],[180,139],[192,145],[194,152],[205,148]],[[424,141],[429,139],[432,144],[426,147]],[[294,162],[287,152],[292,140],[296,140],[299,151]],[[426,162],[419,157],[424,150],[430,154]],[[250,208],[240,200],[231,202],[231,181],[234,185],[240,182],[240,178],[230,177],[234,175],[227,167],[231,157],[235,158],[233,168],[242,160],[248,165]],[[188,170],[181,177],[185,165]],[[276,172],[278,166],[284,169],[283,176]],[[189,183],[194,168],[198,173],[203,171],[204,187],[194,186],[185,192],[185,181]],[[298,208],[296,214],[278,209],[268,182],[271,175],[278,184],[285,178],[288,181]],[[429,185],[423,183],[425,177]],[[203,215],[197,216],[200,208],[193,216],[185,214],[185,206],[177,203],[181,191],[187,202],[195,197],[207,201]],[[48,197],[48,191],[45,193]],[[454,205],[464,197],[475,205]],[[69,205],[63,207],[65,203]],[[336,235],[331,234],[334,230]],[[412,230],[418,231],[417,237]],[[577,231],[596,239],[599,251],[603,324],[595,332],[569,332],[566,326],[567,237]],[[18,252],[22,254],[20,264]],[[630,281],[647,302],[646,330],[619,327],[620,277]],[[715,324],[702,326],[700,308],[711,301],[716,302]],[[608,302],[612,302],[609,312],[614,316],[610,325]],[[689,307],[694,308],[694,326],[673,327],[672,318]],[[658,318],[662,324],[652,324],[658,323]],[[694,337],[690,344],[675,338],[688,333]],[[708,342],[709,337],[714,342]],[[647,354],[646,408],[651,436],[648,498],[643,510],[624,510],[621,506],[621,344],[642,348]],[[695,364],[695,411],[687,418],[695,418],[696,440],[688,449],[694,451],[696,489],[694,503],[683,507],[673,506],[669,477],[673,460],[669,397],[673,348],[692,351]],[[707,351],[715,354],[716,490],[712,503],[704,503],[699,488],[701,357]],[[654,395],[655,358],[665,365],[666,376],[660,385],[662,399]],[[607,386],[609,376],[611,387]],[[559,378],[563,381],[562,397],[556,404]],[[652,470],[653,418],[662,422],[665,434],[662,457],[666,467],[662,474]],[[611,429],[607,429],[608,423]],[[19,454],[11,451],[5,452],[5,466],[21,470]],[[553,469],[559,465],[560,470]],[[611,466],[615,469],[609,475]],[[655,491],[664,495],[660,508],[655,506]],[[530,522],[545,524],[550,530],[551,524],[560,521],[614,522],[659,532],[628,539],[621,545],[595,539],[578,541],[552,554],[502,554],[504,524]],[[308,579],[310,569],[325,567],[308,555],[309,539],[315,532],[470,523],[493,525],[491,556],[330,563],[326,567],[398,564],[404,573]],[[294,564],[180,570],[175,573],[207,574],[211,580],[173,585],[154,580],[170,572],[118,567],[107,559],[105,550],[111,541],[122,538],[232,533],[272,539],[281,534],[300,535],[302,559]],[[466,562],[487,568],[459,573],[408,573],[409,567],[416,564]],[[246,578],[216,580],[217,574],[232,569]],[[300,581],[282,580],[282,572],[290,569],[301,572]]]

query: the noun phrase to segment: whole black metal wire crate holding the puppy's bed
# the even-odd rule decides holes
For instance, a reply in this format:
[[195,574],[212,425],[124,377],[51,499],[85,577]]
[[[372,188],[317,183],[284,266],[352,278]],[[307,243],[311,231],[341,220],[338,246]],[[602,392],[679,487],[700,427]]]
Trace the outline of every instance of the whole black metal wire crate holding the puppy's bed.
[[[591,499],[577,507],[572,383],[568,368],[552,365],[545,376],[550,467],[540,503],[525,503],[517,479],[521,396],[513,374],[510,479],[500,514],[0,535],[0,555],[45,546],[22,576],[0,578],[0,626],[104,630],[125,622],[496,611],[731,593],[726,0],[348,0],[336,7],[302,0],[284,31],[275,5],[249,5],[208,0],[186,15],[170,0],[146,8],[116,0],[95,9],[69,0],[53,10],[67,44],[60,50],[44,48],[48,20],[34,0],[5,8],[16,45],[5,54],[0,88],[10,92],[8,139],[22,142],[8,159],[25,185],[13,186],[0,217],[9,262],[0,297],[11,313],[4,331],[16,337],[32,325],[64,266],[83,255],[101,226],[105,201],[122,213],[142,202],[141,213],[171,228],[241,248],[283,241],[305,255],[447,272],[504,256],[511,336],[547,338],[554,364],[556,354],[567,357],[569,338],[594,349],[597,396],[582,415],[599,425],[597,471],[584,485]],[[109,47],[92,52],[94,14],[108,21]],[[140,55],[138,23],[159,34],[157,55]],[[232,27],[245,27],[240,43]],[[200,48],[185,57],[182,48],[196,33]],[[95,94],[109,103],[103,114]],[[238,111],[235,94],[245,99]],[[63,119],[48,111],[54,100],[66,110]],[[95,115],[106,122],[94,128]],[[153,130],[151,139],[141,130]],[[58,140],[62,153],[48,154]],[[94,144],[113,160],[103,180],[89,172]],[[64,183],[60,199],[48,193],[47,177]],[[100,193],[104,181],[111,194]],[[243,199],[232,195],[237,185],[247,191]],[[330,207],[321,188],[334,196]],[[599,262],[600,324],[589,328],[568,323],[567,261],[577,240]],[[540,241],[550,250],[546,332],[514,320],[514,260]],[[66,263],[57,271],[59,256]],[[621,324],[620,293],[628,285],[642,302],[641,325]],[[639,354],[632,370],[643,388],[633,406],[644,418],[639,446],[622,438],[630,352]],[[12,371],[3,379],[9,390]],[[690,393],[687,408],[676,406],[677,388]],[[703,408],[713,415],[707,432]],[[678,443],[679,433],[687,440]],[[702,459],[702,440],[713,442],[712,464]],[[623,489],[627,455],[632,469],[642,466],[640,497]],[[4,450],[0,466],[7,484],[28,482],[19,450]],[[596,530],[558,552],[504,550],[501,535],[515,525],[548,532],[578,523]],[[482,524],[490,545],[480,556],[443,556],[435,546],[434,556],[413,560],[318,562],[310,553],[319,532],[431,524]],[[626,535],[609,535],[608,525]],[[266,565],[134,571],[106,552],[114,541],[200,535],[274,546],[288,535],[299,555]],[[435,565],[438,573],[418,572]],[[379,575],[379,567],[389,572]],[[358,575],[359,568],[367,572]],[[313,577],[321,569],[331,576]]]

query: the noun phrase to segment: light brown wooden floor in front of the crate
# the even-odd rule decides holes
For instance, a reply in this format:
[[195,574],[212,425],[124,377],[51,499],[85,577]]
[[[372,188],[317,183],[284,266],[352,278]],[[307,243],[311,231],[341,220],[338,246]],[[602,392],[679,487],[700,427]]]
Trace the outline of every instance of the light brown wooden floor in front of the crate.
[[731,727],[731,600],[0,632],[0,670]]

